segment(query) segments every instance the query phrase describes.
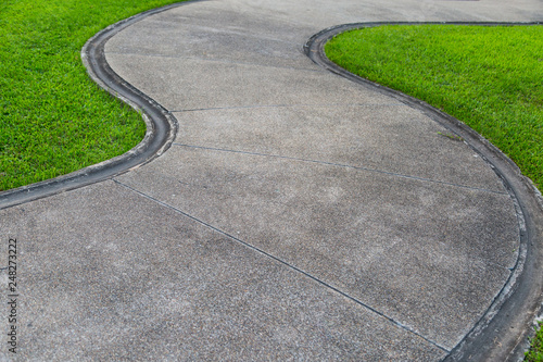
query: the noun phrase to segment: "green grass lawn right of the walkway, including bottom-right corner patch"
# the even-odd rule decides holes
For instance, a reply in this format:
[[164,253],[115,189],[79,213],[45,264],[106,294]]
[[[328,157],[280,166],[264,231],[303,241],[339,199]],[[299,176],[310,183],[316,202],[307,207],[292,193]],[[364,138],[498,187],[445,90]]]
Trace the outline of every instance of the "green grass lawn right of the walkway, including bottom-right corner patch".
[[[348,32],[327,57],[463,121],[543,187],[543,27],[390,25]],[[528,361],[543,361],[543,332]]]

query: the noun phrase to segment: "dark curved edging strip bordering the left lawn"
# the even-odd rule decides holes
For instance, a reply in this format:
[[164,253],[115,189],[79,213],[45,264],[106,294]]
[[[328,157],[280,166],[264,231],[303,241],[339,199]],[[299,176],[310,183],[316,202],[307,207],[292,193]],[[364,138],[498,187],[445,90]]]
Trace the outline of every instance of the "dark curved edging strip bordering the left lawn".
[[149,10],[113,24],[90,38],[81,50],[81,59],[90,78],[113,97],[142,114],[147,124],[143,140],[128,152],[113,159],[67,175],[0,192],[0,210],[112,178],[150,162],[169,148],[177,133],[177,120],[110,67],[105,60],[104,46],[115,34],[134,23],[189,2],[193,1]]

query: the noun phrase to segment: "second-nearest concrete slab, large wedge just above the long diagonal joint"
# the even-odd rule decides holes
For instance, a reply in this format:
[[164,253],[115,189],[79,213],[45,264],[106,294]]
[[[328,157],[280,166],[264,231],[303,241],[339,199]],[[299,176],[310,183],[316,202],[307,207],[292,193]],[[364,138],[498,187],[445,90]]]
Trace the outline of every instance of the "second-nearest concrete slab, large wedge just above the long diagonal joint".
[[117,180],[447,349],[481,317],[518,254],[508,195],[188,147]]

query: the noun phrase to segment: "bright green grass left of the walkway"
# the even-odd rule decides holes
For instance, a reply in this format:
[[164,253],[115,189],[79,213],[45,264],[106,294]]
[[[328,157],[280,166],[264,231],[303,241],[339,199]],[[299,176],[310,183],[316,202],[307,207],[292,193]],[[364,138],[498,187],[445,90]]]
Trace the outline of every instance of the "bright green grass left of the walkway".
[[122,154],[144,136],[137,112],[100,90],[80,60],[100,29],[178,0],[3,0],[0,191]]

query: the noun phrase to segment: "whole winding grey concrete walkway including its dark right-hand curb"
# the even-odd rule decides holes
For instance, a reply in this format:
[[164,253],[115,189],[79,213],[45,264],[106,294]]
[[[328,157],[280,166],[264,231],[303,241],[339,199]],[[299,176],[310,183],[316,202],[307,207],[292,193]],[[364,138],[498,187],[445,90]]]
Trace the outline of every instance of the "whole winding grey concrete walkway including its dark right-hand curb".
[[466,127],[304,45],[348,23],[541,20],[535,0],[197,1],[136,18],[105,63],[177,120],[175,139],[0,211],[18,358],[521,355],[542,290],[529,184]]

